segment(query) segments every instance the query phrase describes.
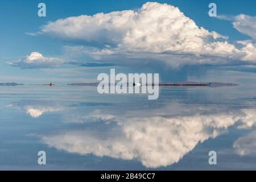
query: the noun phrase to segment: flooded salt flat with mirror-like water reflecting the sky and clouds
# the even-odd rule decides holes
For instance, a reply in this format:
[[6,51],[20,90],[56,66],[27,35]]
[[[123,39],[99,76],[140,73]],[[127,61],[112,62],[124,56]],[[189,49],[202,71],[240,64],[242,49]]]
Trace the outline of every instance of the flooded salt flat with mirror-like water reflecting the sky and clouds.
[[2,86],[0,98],[1,169],[256,169],[255,87],[164,86],[148,100],[94,86]]

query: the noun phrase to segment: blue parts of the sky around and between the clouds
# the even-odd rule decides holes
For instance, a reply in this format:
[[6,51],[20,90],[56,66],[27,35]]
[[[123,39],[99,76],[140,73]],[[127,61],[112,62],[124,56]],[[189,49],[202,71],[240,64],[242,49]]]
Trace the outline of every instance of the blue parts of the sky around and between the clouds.
[[[39,34],[31,36],[26,32],[38,32],[42,30],[42,26],[48,24],[49,21],[55,22],[57,19],[64,19],[70,16],[79,15],[94,15],[97,13],[110,13],[112,11],[122,10],[135,10],[137,11],[147,1],[42,1],[47,6],[47,16],[39,17],[38,3],[41,1],[6,1],[0,2],[0,81],[1,82],[76,82],[76,81],[93,81],[96,79],[98,73],[109,72],[110,67],[80,67],[80,63],[98,63],[93,60],[92,57],[88,58],[87,55],[70,57],[65,46],[70,47],[93,47],[99,48],[104,43],[98,42],[86,42],[81,40],[69,40],[63,39],[63,37],[55,36],[56,34]],[[217,4],[217,14],[235,17],[239,14],[245,14],[250,17],[256,16],[256,2],[255,1],[189,1],[189,0],[177,0],[177,1],[155,1],[159,3],[167,3],[175,7],[179,7],[179,10],[184,13],[185,16],[192,19],[198,27],[204,27],[208,31],[216,31],[218,34],[228,36],[228,42],[234,44],[238,40],[252,40],[254,44],[254,38],[250,34],[238,31],[233,27],[233,20],[223,20],[220,18],[212,18],[208,16],[208,5],[210,2]],[[65,27],[64,27],[65,28]],[[145,27],[146,28],[146,27]],[[251,27],[250,27],[251,28]],[[254,27],[255,28],[255,27]],[[172,40],[170,40],[172,41]],[[135,43],[136,44],[136,43]],[[117,46],[118,47],[118,46]],[[166,50],[164,50],[166,51]],[[173,51],[172,49],[170,51]],[[58,67],[51,68],[34,68],[34,69],[21,69],[20,67],[12,67],[6,64],[7,61],[15,61],[24,59],[31,52],[40,52],[45,57],[58,57],[59,59],[65,59],[75,61],[77,64],[65,64],[58,65]],[[154,52],[154,51],[152,51]],[[155,52],[154,52],[155,53]],[[184,53],[184,52],[183,52]],[[187,54],[188,52],[185,52]],[[189,52],[191,53],[191,52]],[[68,55],[68,56],[67,56]],[[207,53],[208,55],[208,53]],[[212,56],[212,55],[211,55]],[[104,56],[103,56],[104,57]],[[230,56],[229,56],[230,57]],[[118,58],[123,59],[123,58]],[[139,57],[139,59],[147,60],[147,57]],[[196,58],[195,58],[196,59]],[[222,58],[221,58],[222,59]],[[237,62],[237,58],[235,59]],[[133,64],[138,64],[139,68],[130,65],[129,59],[123,60],[122,64],[117,64],[114,61],[113,64],[117,64],[114,68],[118,69],[118,72],[159,72],[160,77],[164,81],[185,81],[193,79],[193,81],[235,81],[246,82],[246,80],[253,80],[252,76],[255,74],[255,61],[251,61],[250,64],[236,63],[236,67],[231,67],[233,62],[223,65],[221,61],[220,65],[185,65],[179,66],[179,68],[171,65],[166,68],[167,59],[164,63],[146,64],[146,62],[137,63],[133,61]],[[247,61],[247,60],[246,60]],[[112,62],[112,58],[108,60],[101,60],[100,63]],[[129,65],[126,65],[129,62]],[[112,64],[112,63],[111,63]],[[249,67],[245,69],[244,67]],[[238,67],[239,66],[239,67]],[[241,67],[243,66],[243,67]],[[143,67],[143,69],[141,69]],[[253,68],[253,69],[251,69]],[[216,71],[217,70],[217,71]],[[212,72],[216,71],[219,75],[224,75],[223,78],[213,77]],[[233,79],[230,79],[232,77]],[[248,79],[246,79],[246,77]],[[255,76],[254,76],[255,77]],[[256,81],[255,81],[256,82]]]

